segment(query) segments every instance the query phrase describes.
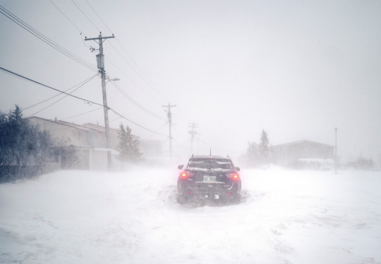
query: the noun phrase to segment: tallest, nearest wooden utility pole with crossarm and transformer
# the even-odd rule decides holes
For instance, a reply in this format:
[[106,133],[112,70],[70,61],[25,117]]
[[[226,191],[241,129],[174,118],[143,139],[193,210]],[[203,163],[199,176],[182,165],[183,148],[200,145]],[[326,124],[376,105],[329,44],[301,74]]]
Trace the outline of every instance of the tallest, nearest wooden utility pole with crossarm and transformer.
[[[85,38],[85,40],[94,40],[99,44],[99,54],[97,54],[97,66],[99,73],[102,78],[102,94],[103,94],[103,113],[104,113],[104,129],[106,132],[106,147],[111,149],[110,142],[110,127],[109,127],[109,108],[107,107],[107,94],[106,94],[106,70],[104,70],[104,55],[103,55],[103,42],[104,39],[113,39],[114,34],[111,37],[102,37],[102,32],[99,32],[98,37],[93,37],[90,39]],[[90,48],[91,51],[95,51],[94,48]],[[111,151],[107,151],[107,165],[111,167]]]

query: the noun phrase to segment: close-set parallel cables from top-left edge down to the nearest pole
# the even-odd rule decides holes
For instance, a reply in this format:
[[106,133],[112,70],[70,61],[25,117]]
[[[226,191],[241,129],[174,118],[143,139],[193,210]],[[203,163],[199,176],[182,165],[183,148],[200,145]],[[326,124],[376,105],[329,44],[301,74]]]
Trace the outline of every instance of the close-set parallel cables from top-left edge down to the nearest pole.
[[52,41],[52,39],[49,39],[44,34],[39,32],[38,30],[35,30],[32,26],[28,25],[28,23],[25,23],[23,20],[18,18],[16,15],[13,15],[10,11],[8,11],[6,8],[0,5],[0,13],[5,15],[7,18],[12,20],[14,23],[19,25],[20,27],[23,27],[24,30],[30,32],[30,34],[33,34],[38,39],[42,40],[49,46],[52,46],[52,48],[56,49],[57,51],[61,52],[61,54],[67,56],[68,58],[71,58],[73,61],[80,63],[81,65],[89,68],[90,70],[97,71],[97,68],[93,66],[91,63],[88,63],[87,61],[83,60],[83,58],[80,58],[76,56],[75,54],[71,53],[71,51],[68,51],[67,49],[64,49],[59,44],[56,44],[56,42]]

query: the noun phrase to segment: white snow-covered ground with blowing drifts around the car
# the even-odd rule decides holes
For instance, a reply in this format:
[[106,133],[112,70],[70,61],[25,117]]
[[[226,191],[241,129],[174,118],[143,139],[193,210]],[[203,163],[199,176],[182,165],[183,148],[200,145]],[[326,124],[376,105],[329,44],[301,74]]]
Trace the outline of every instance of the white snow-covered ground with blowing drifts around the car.
[[0,184],[0,263],[381,263],[381,172],[241,177],[229,206],[180,206],[163,168]]

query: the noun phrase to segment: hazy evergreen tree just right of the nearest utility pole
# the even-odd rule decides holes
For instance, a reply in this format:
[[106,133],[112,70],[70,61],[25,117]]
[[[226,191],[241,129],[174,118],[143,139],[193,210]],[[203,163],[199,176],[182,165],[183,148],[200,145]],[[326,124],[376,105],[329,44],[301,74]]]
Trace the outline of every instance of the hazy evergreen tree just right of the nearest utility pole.
[[134,163],[141,161],[142,153],[139,151],[139,141],[133,140],[131,128],[128,126],[124,127],[123,124],[119,125],[119,127],[121,129],[118,136],[119,159],[121,161],[131,161]]

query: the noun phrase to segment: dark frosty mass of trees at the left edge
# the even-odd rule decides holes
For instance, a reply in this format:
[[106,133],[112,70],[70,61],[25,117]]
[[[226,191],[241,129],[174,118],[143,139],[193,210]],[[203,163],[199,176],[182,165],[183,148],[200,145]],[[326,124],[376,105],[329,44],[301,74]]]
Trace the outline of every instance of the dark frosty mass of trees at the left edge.
[[59,159],[62,168],[70,167],[76,157],[67,143],[30,124],[18,106],[8,113],[0,111],[0,183],[40,175],[47,163]]

